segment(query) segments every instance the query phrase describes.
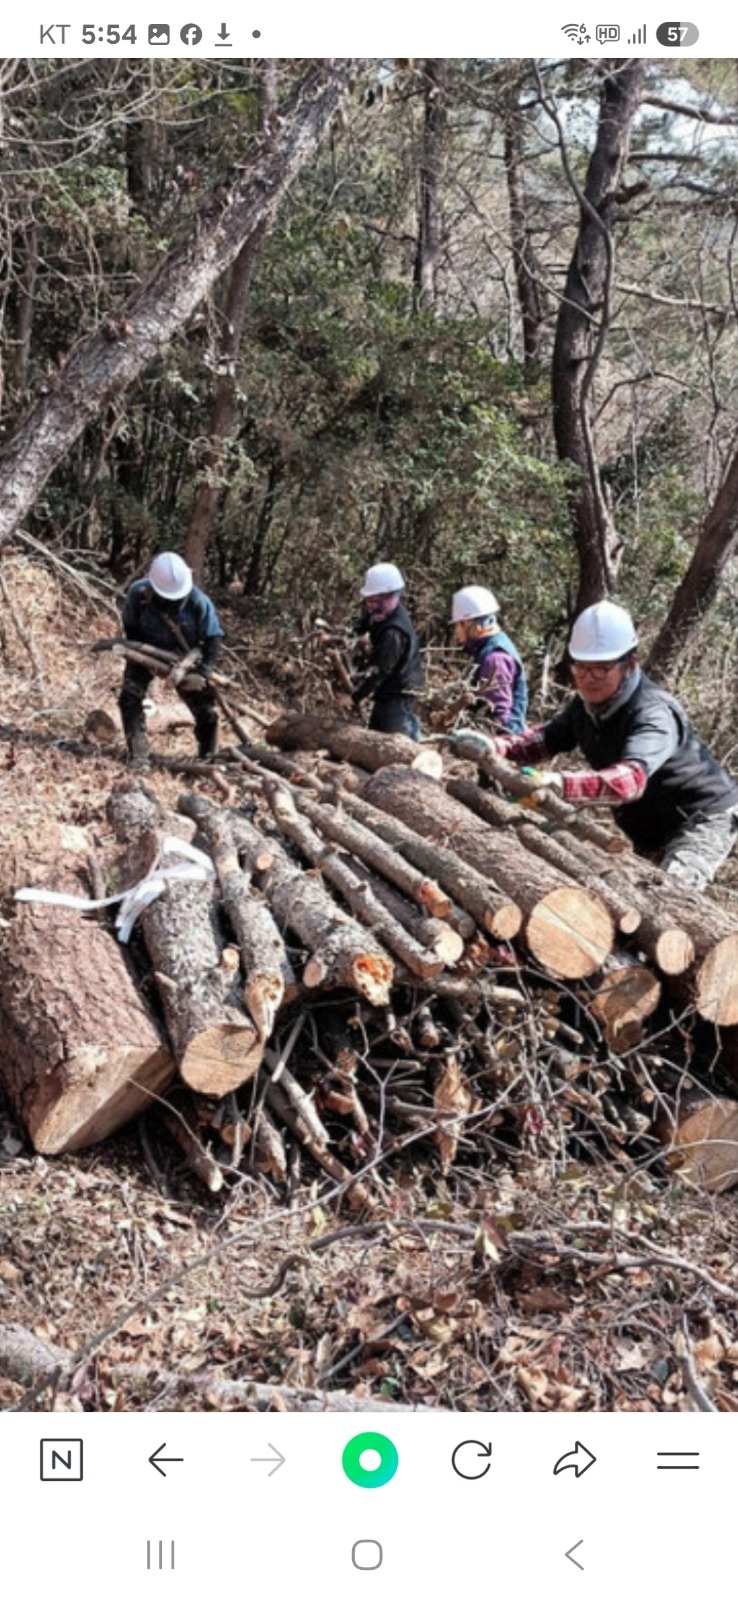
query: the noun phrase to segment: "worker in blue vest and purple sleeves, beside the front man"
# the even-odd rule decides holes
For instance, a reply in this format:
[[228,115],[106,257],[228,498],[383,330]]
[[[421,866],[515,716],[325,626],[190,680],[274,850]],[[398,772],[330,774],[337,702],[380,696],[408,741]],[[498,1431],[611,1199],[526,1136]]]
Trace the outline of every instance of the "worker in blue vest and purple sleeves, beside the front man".
[[491,589],[480,584],[456,589],[451,600],[453,632],[456,643],[474,661],[474,686],[495,726],[522,733],[528,709],[525,667],[499,627],[498,610]]

